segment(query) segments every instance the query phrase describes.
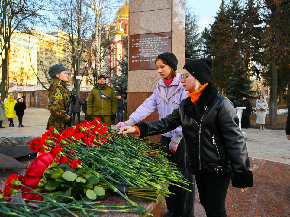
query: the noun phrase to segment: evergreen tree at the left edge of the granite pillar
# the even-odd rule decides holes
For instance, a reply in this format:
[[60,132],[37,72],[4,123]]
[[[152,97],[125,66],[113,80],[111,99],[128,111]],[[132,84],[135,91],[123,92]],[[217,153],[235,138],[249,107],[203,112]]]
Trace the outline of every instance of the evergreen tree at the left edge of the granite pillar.
[[128,91],[128,49],[125,49],[125,57],[121,61],[118,61],[118,67],[120,68],[120,75],[115,73],[110,79],[115,92],[119,93],[122,97],[127,97]]

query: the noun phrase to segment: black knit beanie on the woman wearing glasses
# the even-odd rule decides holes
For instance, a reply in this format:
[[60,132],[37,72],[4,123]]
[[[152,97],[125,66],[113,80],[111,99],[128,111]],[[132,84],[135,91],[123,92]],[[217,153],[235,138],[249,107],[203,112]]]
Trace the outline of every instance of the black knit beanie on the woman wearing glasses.
[[206,84],[211,77],[212,66],[212,58],[201,58],[185,63],[183,68],[190,72],[201,84]]

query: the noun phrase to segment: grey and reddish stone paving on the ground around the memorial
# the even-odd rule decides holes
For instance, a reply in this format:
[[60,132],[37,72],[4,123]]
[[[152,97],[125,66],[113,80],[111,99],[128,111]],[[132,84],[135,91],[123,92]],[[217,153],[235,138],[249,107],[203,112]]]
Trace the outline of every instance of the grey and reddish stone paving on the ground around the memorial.
[[[46,130],[50,112],[43,108],[27,108],[23,118],[24,127],[0,129],[0,137],[41,136]],[[243,129],[254,176],[254,186],[246,193],[237,188],[228,189],[226,199],[229,217],[288,217],[290,216],[290,141],[285,131]],[[1,184],[0,184],[1,186]],[[3,187],[3,186],[1,186]],[[213,192],[214,193],[214,192]],[[205,211],[199,203],[195,186],[195,217],[205,217]],[[162,206],[162,214],[167,212]]]

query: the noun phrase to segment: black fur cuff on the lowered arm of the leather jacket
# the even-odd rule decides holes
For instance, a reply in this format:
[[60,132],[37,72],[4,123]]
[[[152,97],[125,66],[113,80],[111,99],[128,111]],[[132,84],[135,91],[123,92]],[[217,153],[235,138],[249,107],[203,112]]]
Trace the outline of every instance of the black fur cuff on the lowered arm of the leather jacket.
[[232,185],[233,187],[253,187],[253,173],[252,171],[243,171],[232,174]]

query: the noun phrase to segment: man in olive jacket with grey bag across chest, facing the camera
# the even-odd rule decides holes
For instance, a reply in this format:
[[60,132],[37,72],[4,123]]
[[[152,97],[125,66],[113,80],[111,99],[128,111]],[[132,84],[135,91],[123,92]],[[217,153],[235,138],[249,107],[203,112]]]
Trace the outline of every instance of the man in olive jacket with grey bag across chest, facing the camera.
[[100,75],[97,86],[89,94],[87,102],[88,121],[101,118],[102,122],[111,127],[112,120],[115,120],[116,114],[117,97],[114,88],[106,84],[104,75]]

